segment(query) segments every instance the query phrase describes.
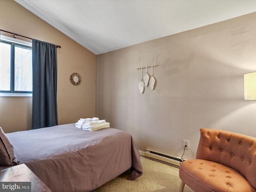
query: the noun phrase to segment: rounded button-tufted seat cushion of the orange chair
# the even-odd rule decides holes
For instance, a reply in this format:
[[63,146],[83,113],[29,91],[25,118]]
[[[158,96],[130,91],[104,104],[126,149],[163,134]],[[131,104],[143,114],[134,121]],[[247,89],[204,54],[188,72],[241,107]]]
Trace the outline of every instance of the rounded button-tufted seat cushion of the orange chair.
[[179,173],[180,179],[196,192],[256,192],[239,172],[212,161],[186,160],[180,164]]

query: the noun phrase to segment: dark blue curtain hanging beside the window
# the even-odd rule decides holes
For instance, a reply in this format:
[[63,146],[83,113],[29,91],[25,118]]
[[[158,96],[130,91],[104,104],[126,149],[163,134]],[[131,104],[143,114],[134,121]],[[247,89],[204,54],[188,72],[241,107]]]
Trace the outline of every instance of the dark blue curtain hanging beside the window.
[[32,129],[58,125],[57,48],[32,40]]

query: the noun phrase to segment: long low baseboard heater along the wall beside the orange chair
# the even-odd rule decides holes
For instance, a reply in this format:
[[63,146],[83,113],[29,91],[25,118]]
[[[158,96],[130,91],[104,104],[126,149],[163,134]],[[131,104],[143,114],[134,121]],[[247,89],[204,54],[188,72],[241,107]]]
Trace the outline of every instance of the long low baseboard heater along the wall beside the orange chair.
[[172,166],[180,166],[180,163],[182,162],[181,158],[179,157],[175,157],[175,156],[171,156],[168,154],[164,154],[164,153],[160,153],[154,150],[150,150],[150,149],[146,149],[145,151],[145,156],[147,158],[151,158],[163,163],[167,163],[170,164]]

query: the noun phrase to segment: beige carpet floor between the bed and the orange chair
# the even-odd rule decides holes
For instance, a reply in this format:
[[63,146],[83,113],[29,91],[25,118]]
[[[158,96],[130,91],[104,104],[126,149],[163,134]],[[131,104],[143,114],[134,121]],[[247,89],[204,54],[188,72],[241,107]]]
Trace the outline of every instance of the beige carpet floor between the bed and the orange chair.
[[[141,156],[143,174],[134,181],[125,172],[93,192],[178,192],[179,169]],[[194,192],[185,185],[184,192]]]

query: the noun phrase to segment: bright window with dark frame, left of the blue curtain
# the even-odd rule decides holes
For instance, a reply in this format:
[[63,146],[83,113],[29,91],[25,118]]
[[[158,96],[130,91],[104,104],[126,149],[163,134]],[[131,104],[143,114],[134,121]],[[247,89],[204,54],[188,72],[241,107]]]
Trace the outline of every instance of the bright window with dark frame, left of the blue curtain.
[[1,35],[0,96],[32,96],[32,43]]

